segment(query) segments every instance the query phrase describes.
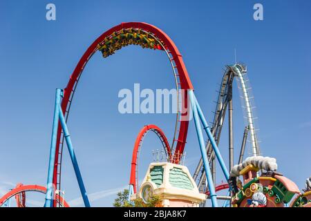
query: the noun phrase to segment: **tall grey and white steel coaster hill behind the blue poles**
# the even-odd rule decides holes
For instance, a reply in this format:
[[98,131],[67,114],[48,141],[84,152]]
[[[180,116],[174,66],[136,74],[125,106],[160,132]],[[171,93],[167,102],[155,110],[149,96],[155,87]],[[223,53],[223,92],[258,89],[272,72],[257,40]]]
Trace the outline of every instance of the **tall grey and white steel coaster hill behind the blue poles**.
[[[245,66],[242,64],[235,64],[232,66],[226,66],[225,74],[223,75],[223,79],[220,84],[220,89],[218,91],[218,99],[216,102],[216,110],[214,112],[214,121],[211,126],[211,133],[213,134],[216,144],[218,145],[220,142],[220,135],[221,131],[223,129],[223,124],[225,122],[225,114],[228,108],[229,112],[229,171],[232,170],[232,167],[234,166],[234,130],[233,130],[233,102],[232,102],[232,84],[234,81],[234,78],[238,80],[240,83],[239,89],[241,90],[241,97],[243,99],[243,105],[245,108],[245,118],[247,119],[247,126],[245,126],[245,130],[243,133],[243,142],[241,146],[241,152],[238,159],[238,164],[240,164],[243,161],[243,156],[245,153],[245,146],[247,141],[247,135],[250,133],[250,142],[252,144],[252,155],[257,156],[260,155],[258,141],[257,141],[257,135],[256,135],[256,128],[254,125],[254,113],[253,109],[254,106],[252,106],[250,96],[250,87],[247,86],[247,79],[245,79],[245,75],[247,73],[247,70]],[[215,166],[215,155],[214,151],[211,148],[211,143],[207,142],[206,144],[206,151],[207,155],[209,157],[209,162],[211,166],[211,171],[213,175],[213,180],[216,180],[216,166]],[[198,179],[198,175],[200,175]],[[201,192],[206,192],[205,190],[205,170],[202,168],[202,158],[198,162],[198,166],[196,167],[196,170],[194,172],[194,180],[198,179],[198,187]],[[229,188],[228,185],[220,184],[222,186],[222,189]],[[220,189],[220,187],[218,187]]]

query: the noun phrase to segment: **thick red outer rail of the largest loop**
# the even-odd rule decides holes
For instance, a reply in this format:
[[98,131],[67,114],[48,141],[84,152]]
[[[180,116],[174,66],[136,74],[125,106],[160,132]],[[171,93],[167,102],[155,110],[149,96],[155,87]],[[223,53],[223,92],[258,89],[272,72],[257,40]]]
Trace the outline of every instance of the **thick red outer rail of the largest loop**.
[[[186,66],[184,61],[182,60],[182,55],[176,45],[173,43],[171,38],[165,34],[162,30],[157,28],[156,26],[152,26],[148,23],[142,22],[127,22],[121,23],[118,26],[115,26],[106,32],[104,32],[100,37],[98,37],[91,46],[88,47],[84,55],[79,60],[75,70],[73,70],[72,75],[70,75],[70,79],[66,88],[64,89],[64,97],[62,99],[62,111],[63,113],[68,113],[68,108],[70,107],[70,102],[72,101],[74,88],[79,81],[79,77],[82,74],[84,67],[86,66],[89,59],[91,59],[92,55],[97,51],[97,45],[100,44],[106,37],[109,37],[113,34],[113,32],[120,31],[123,28],[140,28],[146,32],[151,32],[155,37],[158,37],[164,45],[166,46],[167,50],[171,53],[173,57],[173,61],[176,64],[176,68],[178,70],[178,77],[180,79],[180,88],[184,90],[193,89],[191,81],[189,79],[189,75],[187,73]],[[187,93],[185,96],[182,97],[182,107],[187,108]],[[187,113],[182,113],[182,116],[187,117]],[[182,153],[185,148],[185,143],[187,140],[187,131],[188,131],[189,121],[183,120],[180,122],[180,131],[178,134],[178,140],[176,141],[176,153]],[[61,147],[61,140],[62,140],[62,127],[58,127],[57,131],[57,145],[55,150],[55,169],[53,172],[53,184],[57,186],[60,184],[60,174],[61,174],[61,160],[62,160],[62,148]],[[177,162],[178,163],[178,162]],[[59,180],[58,180],[59,179]]]

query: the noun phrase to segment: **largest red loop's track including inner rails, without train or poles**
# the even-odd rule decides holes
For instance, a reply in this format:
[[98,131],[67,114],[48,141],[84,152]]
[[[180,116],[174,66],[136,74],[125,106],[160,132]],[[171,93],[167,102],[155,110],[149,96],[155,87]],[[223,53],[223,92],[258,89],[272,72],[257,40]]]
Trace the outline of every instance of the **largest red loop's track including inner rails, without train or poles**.
[[[148,23],[141,23],[141,22],[121,23],[120,25],[115,26],[104,32],[100,37],[98,37],[93,42],[93,44],[91,44],[91,46],[88,47],[86,52],[84,52],[84,55],[82,55],[81,59],[79,60],[77,66],[75,67],[75,70],[73,70],[72,75],[70,75],[70,79],[68,81],[66,88],[64,89],[64,97],[62,99],[62,111],[65,115],[66,121],[68,120],[68,113],[70,111],[71,103],[73,102],[75,89],[77,88],[77,84],[88,60],[91,59],[91,57],[95,54],[95,52],[97,52],[102,42],[106,41],[106,39],[111,39],[116,32],[122,32],[125,29],[139,29],[142,30],[143,32],[149,33],[152,37],[158,39],[158,41],[161,43],[161,48],[156,49],[164,50],[169,56],[170,62],[171,64],[173,64],[172,67],[177,85],[180,87],[180,89],[186,90],[186,92],[189,89],[190,90],[193,89],[184,61],[182,60],[182,55],[180,55],[178,48],[167,34],[165,34],[159,28],[156,28],[156,26],[152,26]],[[187,110],[188,106],[187,93],[184,93],[184,95],[181,96],[179,99],[180,102],[182,103],[182,108],[185,108],[185,110]],[[174,153],[182,153],[184,151],[189,125],[189,121],[187,120],[188,113],[179,109],[178,113],[179,115],[176,117],[176,126],[172,142],[172,148],[174,148],[174,145],[176,144]],[[64,144],[64,134],[62,133],[62,127],[59,126],[58,128],[59,129],[57,131],[57,144],[55,150],[55,164],[54,164],[55,168],[53,171],[53,184],[55,185],[56,189],[61,189],[62,150]],[[176,161],[176,163],[178,162],[179,159]],[[54,203],[54,206],[56,206],[56,202]]]

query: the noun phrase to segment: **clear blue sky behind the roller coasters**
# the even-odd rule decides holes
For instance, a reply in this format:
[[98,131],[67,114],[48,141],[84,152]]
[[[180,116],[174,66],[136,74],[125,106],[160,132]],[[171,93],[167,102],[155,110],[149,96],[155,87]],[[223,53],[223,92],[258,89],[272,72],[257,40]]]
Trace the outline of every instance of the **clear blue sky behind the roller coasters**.
[[[56,21],[46,21],[50,2],[56,5]],[[263,21],[254,21],[254,3],[263,4]],[[66,86],[77,61],[102,32],[124,21],[151,23],[173,39],[209,121],[223,68],[234,63],[236,48],[238,61],[247,64],[263,155],[276,157],[279,171],[303,188],[311,175],[310,8],[310,1],[303,0],[1,0],[0,195],[17,182],[46,185],[55,88]],[[111,206],[115,192],[127,186],[131,152],[142,126],[157,124],[171,140],[174,115],[117,111],[118,91],[135,83],[141,88],[174,87],[162,52],[129,46],[107,59],[97,53],[79,82],[68,127],[93,206]],[[235,88],[236,153],[243,126]],[[220,151],[227,159],[227,124],[222,137]],[[140,179],[156,148],[160,142],[150,135],[140,155]],[[200,157],[193,122],[185,151],[192,173]],[[66,200],[82,206],[66,150],[62,177]],[[33,196],[39,202],[43,198]]]

